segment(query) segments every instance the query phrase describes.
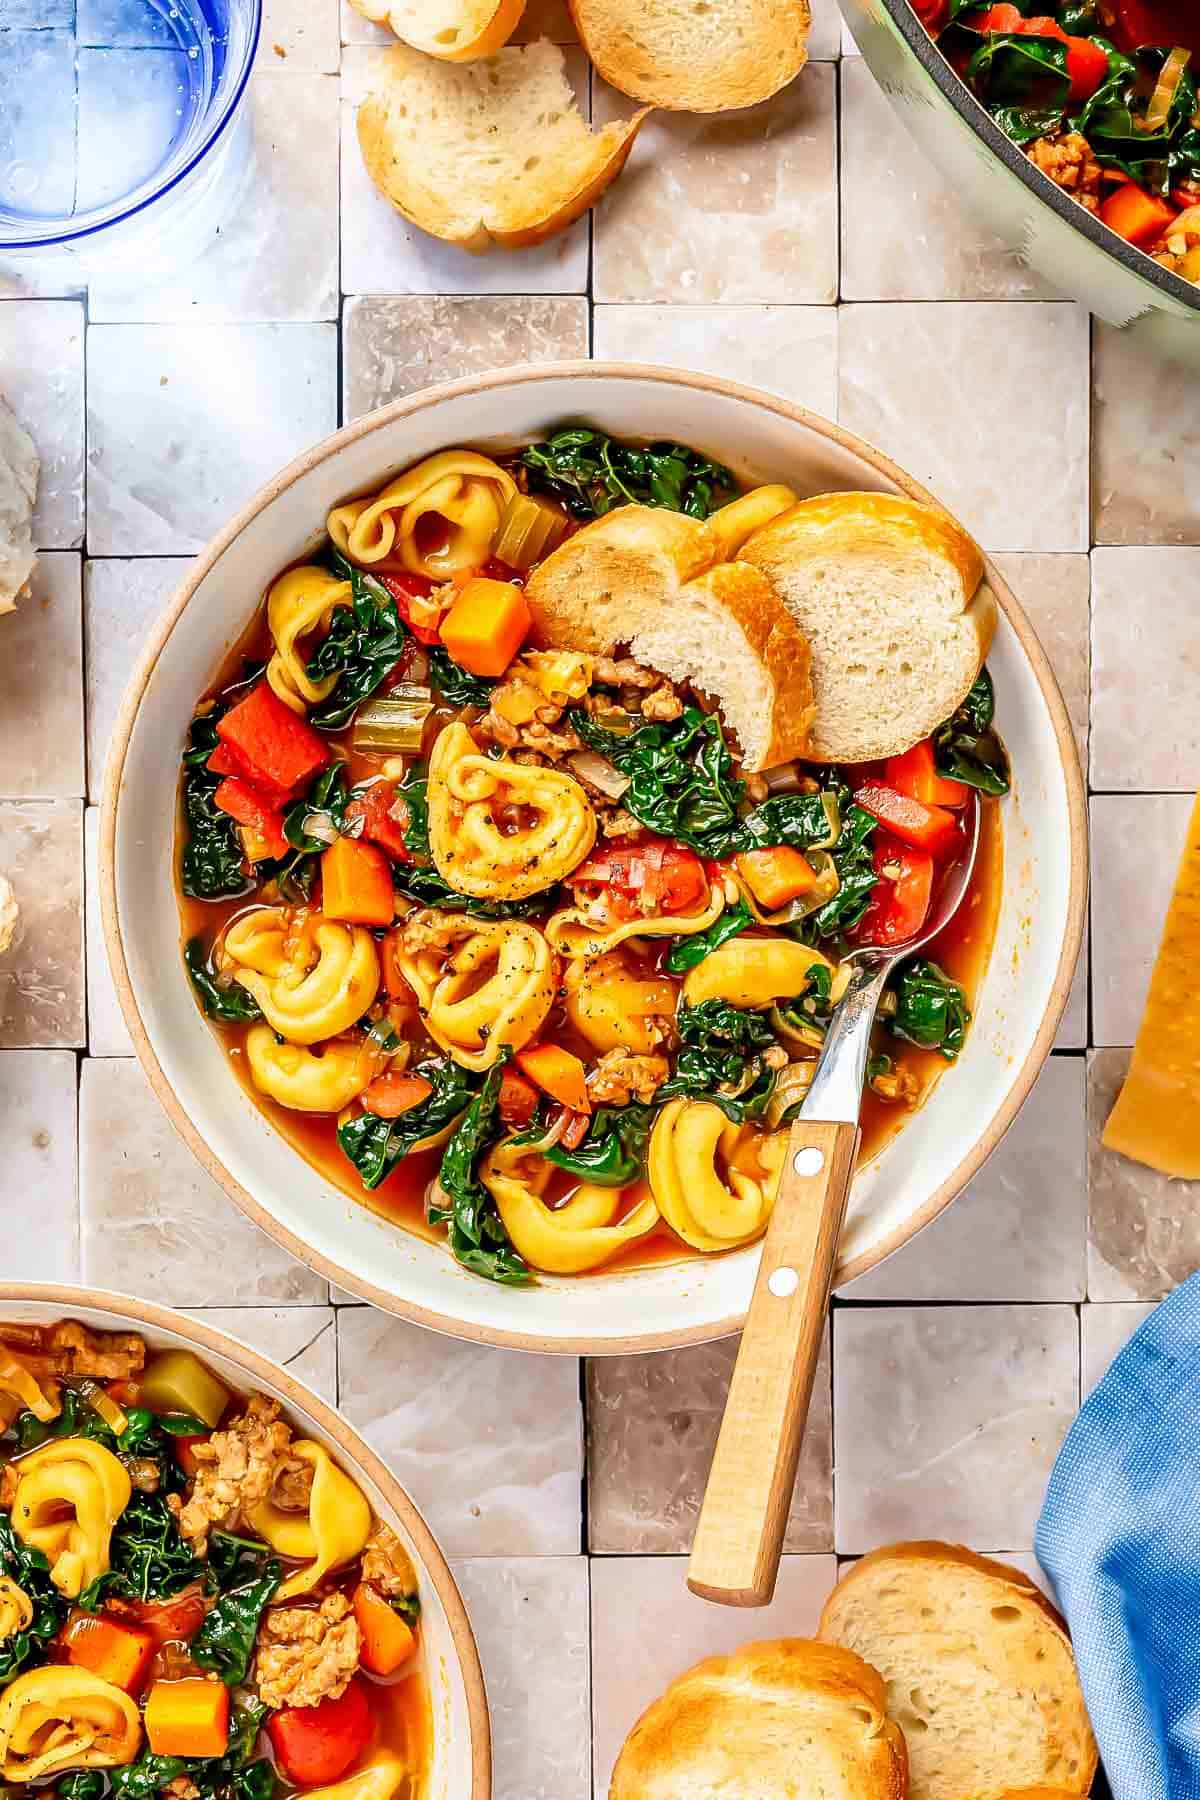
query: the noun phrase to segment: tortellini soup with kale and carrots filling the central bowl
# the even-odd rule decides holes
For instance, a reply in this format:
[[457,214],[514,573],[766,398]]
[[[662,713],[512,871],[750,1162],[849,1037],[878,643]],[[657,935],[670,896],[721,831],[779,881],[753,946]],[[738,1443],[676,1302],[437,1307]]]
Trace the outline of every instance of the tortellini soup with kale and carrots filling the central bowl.
[[[302,1156],[479,1278],[752,1244],[847,952],[916,931],[979,805],[973,895],[885,995],[864,1156],[963,1048],[1007,781],[986,671],[907,756],[750,770],[720,697],[533,625],[531,572],[617,506],[687,515],[694,562],[793,499],[587,427],[443,450],[333,508],[198,700],[198,1006]],[[320,1510],[345,1478],[295,1454]],[[338,1566],[266,1498],[248,1523],[299,1566],[284,1598]],[[72,1580],[97,1544],[63,1550]]]

